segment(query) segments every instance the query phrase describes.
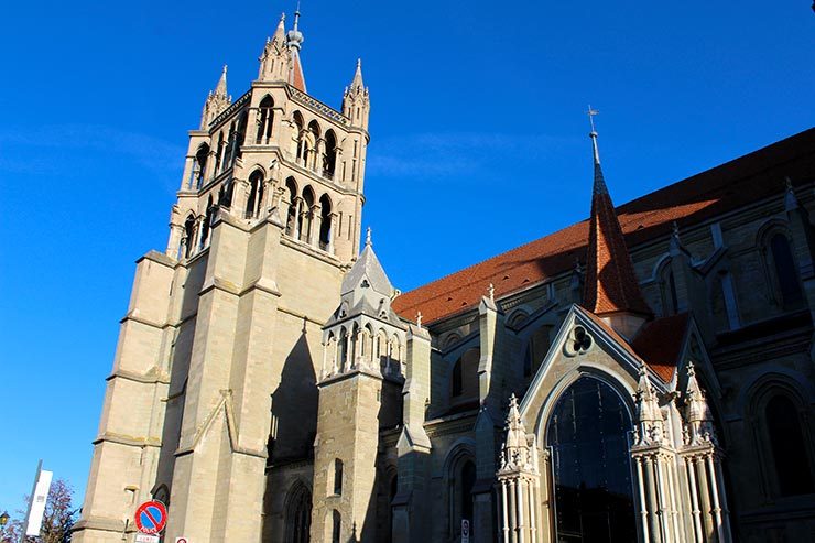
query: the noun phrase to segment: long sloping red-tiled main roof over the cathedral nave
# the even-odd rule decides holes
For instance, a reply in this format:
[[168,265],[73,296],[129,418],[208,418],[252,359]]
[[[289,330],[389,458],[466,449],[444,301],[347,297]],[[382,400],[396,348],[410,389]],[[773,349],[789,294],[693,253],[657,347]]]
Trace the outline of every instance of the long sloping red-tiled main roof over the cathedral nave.
[[[700,222],[770,196],[783,198],[784,178],[811,181],[815,172],[815,129],[809,129],[674,183],[617,208],[628,247],[667,236],[671,224]],[[406,292],[393,301],[403,318],[421,311],[433,323],[474,308],[490,283],[496,296],[525,290],[573,269],[586,257],[588,221]]]

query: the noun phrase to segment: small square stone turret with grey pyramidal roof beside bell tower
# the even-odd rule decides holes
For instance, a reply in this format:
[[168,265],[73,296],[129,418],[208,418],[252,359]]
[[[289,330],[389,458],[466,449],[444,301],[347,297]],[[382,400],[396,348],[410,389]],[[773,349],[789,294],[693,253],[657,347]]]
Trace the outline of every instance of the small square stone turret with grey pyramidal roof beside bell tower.
[[[382,541],[377,533],[380,428],[401,420],[406,327],[370,240],[341,285],[326,346],[314,445],[311,541]],[[390,510],[390,503],[387,506]],[[381,515],[381,511],[379,512]]]

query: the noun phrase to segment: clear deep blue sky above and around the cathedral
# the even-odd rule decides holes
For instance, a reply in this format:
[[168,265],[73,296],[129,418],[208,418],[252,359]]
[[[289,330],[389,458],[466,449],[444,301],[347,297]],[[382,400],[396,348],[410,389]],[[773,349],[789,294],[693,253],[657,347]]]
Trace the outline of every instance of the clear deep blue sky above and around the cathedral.
[[[303,1],[311,94],[370,86],[365,222],[409,290],[584,218],[587,104],[618,204],[815,124],[811,0]],[[84,493],[133,261],[186,131],[294,0],[10,2],[0,18],[0,510]]]

